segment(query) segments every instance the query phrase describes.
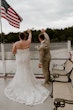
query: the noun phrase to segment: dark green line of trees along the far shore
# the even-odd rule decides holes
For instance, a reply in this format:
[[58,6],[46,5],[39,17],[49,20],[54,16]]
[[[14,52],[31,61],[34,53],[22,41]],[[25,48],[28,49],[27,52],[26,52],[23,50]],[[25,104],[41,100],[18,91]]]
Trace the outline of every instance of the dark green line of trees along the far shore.
[[[31,31],[32,31],[32,42],[33,43],[39,42],[38,35],[40,33],[40,30],[32,29]],[[70,40],[73,44],[73,26],[64,29],[47,28],[46,32],[48,33],[51,42],[63,42],[63,41],[66,42]],[[16,42],[19,40],[18,36],[19,36],[19,32],[16,33],[10,32],[8,34],[2,33],[0,34],[0,42],[4,42],[4,43]],[[27,33],[26,36],[28,36]]]

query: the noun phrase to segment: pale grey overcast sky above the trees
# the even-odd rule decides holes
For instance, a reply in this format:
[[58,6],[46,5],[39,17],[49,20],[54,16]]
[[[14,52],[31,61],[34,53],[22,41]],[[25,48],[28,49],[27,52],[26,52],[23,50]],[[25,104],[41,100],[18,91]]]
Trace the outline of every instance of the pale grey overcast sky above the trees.
[[23,18],[16,29],[2,18],[4,33],[26,29],[60,29],[73,26],[73,0],[6,0]]

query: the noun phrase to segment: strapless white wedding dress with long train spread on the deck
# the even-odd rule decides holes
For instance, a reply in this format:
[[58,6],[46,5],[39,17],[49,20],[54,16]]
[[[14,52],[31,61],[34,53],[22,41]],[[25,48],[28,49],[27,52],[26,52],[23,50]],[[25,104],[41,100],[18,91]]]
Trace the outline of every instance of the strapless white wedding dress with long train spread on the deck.
[[43,103],[49,96],[49,90],[37,82],[31,71],[29,49],[17,50],[16,66],[15,76],[5,88],[5,95],[26,105]]

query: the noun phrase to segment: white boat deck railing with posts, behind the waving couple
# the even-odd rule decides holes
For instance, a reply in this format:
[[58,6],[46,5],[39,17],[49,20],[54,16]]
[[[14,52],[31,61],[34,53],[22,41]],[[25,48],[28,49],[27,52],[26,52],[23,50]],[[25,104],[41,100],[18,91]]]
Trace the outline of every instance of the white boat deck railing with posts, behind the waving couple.
[[[67,42],[67,47],[64,47],[63,49],[51,49],[51,64],[50,64],[50,70],[52,69],[53,64],[55,62],[58,63],[64,63],[66,59],[68,59],[69,52],[71,51],[71,42]],[[31,68],[33,70],[34,74],[42,74],[42,70],[38,68],[39,63],[39,53],[38,51],[30,51],[31,52]],[[15,73],[16,71],[16,63],[15,63],[15,56],[12,55],[11,52],[5,52],[5,47],[3,44],[1,44],[1,52],[2,59],[0,60],[0,73]],[[35,64],[34,64],[35,60]]]

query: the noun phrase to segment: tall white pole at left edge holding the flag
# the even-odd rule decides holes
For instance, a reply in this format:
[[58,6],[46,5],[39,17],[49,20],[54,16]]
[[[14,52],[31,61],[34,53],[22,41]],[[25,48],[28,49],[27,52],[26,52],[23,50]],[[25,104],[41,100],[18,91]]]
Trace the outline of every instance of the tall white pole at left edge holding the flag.
[[1,55],[2,55],[2,64],[3,64],[3,75],[6,74],[6,65],[5,65],[5,50],[4,50],[4,44],[2,39],[2,20],[1,20],[1,0],[0,0],[0,27],[1,27]]

